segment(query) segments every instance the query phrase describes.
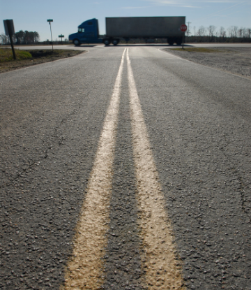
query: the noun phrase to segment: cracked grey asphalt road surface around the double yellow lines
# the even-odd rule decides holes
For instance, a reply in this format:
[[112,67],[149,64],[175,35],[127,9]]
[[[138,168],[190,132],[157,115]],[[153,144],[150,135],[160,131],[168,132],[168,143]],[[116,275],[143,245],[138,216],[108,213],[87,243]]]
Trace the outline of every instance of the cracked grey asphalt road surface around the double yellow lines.
[[[160,278],[149,277],[150,244],[144,238],[154,233],[140,226],[139,196],[145,187],[137,173],[141,153],[135,151],[139,141],[133,126],[141,125],[132,118],[130,66],[163,195],[157,204],[171,224],[165,234],[172,236],[175,250],[170,251],[183,277],[183,284],[169,289],[251,289],[251,82],[161,48],[129,47],[129,65],[126,57],[121,62],[125,47],[97,46],[77,57],[0,75],[0,289],[67,284],[74,241],[82,234],[75,229],[120,67],[109,218],[97,285],[168,289],[161,284],[162,269]],[[158,255],[165,258],[161,252],[155,261]],[[65,289],[90,288],[69,284]]]

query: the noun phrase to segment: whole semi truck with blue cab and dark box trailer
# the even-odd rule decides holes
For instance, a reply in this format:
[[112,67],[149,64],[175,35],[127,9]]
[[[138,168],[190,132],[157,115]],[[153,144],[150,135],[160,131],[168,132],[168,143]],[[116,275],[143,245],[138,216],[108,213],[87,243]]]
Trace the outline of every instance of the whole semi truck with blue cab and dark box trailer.
[[82,43],[119,44],[121,39],[143,38],[151,42],[155,38],[167,38],[167,43],[182,43],[181,24],[185,24],[185,16],[174,17],[106,17],[106,34],[100,38],[98,20],[86,20],[79,25],[75,34],[69,35],[69,41],[75,45]]

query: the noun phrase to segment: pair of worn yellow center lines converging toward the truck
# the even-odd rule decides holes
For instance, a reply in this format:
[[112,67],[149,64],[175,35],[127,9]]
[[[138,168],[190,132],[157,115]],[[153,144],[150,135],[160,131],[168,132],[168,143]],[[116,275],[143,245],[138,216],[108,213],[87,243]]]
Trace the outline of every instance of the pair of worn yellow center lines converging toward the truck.
[[165,201],[126,48],[116,76],[81,217],[77,224],[73,256],[66,269],[66,282],[61,287],[64,290],[100,289],[105,278],[102,258],[107,245],[105,233],[109,220],[108,205],[112,191],[112,165],[125,58],[128,66],[137,204],[140,212],[138,223],[144,247],[142,268],[146,270],[145,281],[149,289],[184,289],[181,265],[177,263],[174,254],[172,226],[164,208]]

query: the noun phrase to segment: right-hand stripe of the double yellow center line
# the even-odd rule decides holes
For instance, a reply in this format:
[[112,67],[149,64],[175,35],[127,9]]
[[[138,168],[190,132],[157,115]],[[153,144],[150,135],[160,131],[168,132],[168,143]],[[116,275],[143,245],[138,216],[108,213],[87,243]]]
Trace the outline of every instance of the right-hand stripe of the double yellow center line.
[[174,254],[176,247],[172,238],[172,224],[164,208],[164,196],[158,181],[158,172],[153,160],[128,51],[126,59],[139,225],[144,248],[142,261],[143,268],[146,270],[146,283],[149,290],[185,289],[181,262]]

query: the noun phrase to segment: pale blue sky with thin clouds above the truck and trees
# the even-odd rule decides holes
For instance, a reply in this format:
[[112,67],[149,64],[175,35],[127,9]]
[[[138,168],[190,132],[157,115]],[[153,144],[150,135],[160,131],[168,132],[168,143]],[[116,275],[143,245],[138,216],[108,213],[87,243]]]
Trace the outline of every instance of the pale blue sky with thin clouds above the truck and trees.
[[15,31],[37,31],[40,41],[77,32],[79,24],[97,18],[100,34],[105,34],[105,17],[185,16],[190,32],[200,26],[217,29],[231,26],[251,28],[251,0],[0,0],[0,34],[3,20],[13,19]]

